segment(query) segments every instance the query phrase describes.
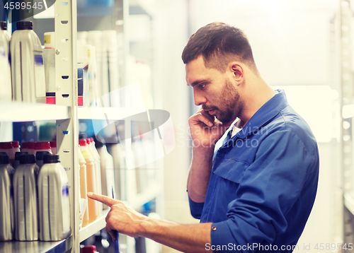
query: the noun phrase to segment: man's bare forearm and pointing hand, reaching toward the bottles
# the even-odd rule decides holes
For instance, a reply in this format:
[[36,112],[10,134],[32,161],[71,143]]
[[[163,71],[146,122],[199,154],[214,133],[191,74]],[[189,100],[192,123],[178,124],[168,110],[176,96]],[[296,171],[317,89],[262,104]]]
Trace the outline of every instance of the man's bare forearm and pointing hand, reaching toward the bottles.
[[173,247],[181,252],[209,252],[205,245],[211,245],[210,231],[212,223],[181,225],[169,220],[157,220],[138,213],[122,201],[111,199],[108,196],[89,192],[87,196],[110,206],[105,218],[105,230],[113,241],[117,240],[117,233],[132,237],[147,237],[155,242]]

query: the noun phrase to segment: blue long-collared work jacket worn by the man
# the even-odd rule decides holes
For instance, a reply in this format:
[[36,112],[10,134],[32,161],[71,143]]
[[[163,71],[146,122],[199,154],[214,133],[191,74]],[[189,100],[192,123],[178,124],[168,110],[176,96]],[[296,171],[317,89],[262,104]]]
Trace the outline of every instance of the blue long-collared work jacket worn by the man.
[[204,203],[192,216],[211,222],[214,252],[292,252],[316,196],[319,151],[283,90],[214,155]]

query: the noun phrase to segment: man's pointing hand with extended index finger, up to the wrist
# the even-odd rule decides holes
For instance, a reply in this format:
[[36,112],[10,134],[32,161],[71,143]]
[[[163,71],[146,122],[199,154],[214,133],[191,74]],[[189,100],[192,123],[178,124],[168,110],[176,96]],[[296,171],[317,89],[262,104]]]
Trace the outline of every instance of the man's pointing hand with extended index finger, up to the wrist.
[[90,199],[100,201],[110,207],[110,211],[108,212],[107,217],[105,217],[105,230],[110,234],[113,242],[117,240],[116,231],[131,237],[138,237],[139,232],[142,230],[142,222],[149,220],[147,216],[138,213],[120,200],[111,199],[108,196],[92,192],[89,192],[87,196]]

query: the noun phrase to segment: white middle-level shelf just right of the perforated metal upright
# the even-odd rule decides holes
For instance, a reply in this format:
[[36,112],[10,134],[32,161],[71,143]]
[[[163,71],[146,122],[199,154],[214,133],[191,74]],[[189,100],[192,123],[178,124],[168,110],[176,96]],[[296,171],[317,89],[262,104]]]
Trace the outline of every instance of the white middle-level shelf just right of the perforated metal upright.
[[[120,120],[142,113],[139,109],[127,109],[121,107],[78,107],[77,116],[79,119],[103,119]],[[145,111],[146,112],[146,111]]]

